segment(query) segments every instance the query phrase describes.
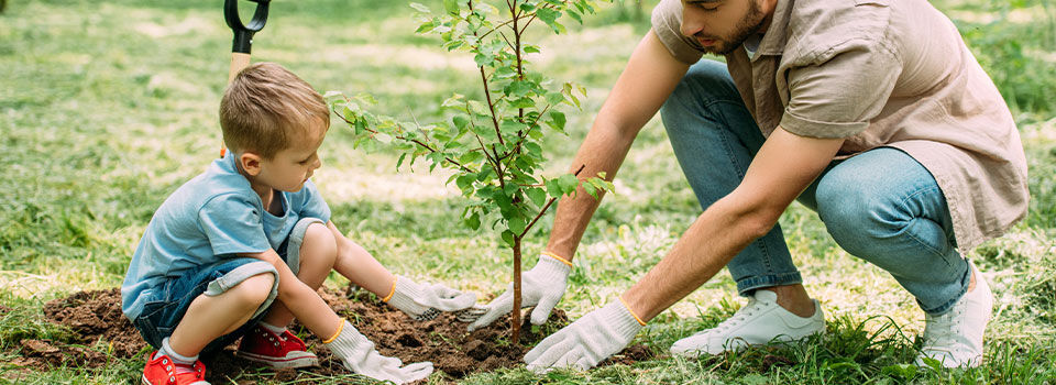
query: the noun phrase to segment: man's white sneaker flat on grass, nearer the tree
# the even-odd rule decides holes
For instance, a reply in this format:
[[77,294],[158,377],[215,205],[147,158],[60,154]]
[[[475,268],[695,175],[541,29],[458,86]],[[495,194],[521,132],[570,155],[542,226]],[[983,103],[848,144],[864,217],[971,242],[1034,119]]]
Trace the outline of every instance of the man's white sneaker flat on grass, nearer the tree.
[[714,329],[705,329],[681,339],[671,345],[671,353],[696,356],[738,351],[748,345],[761,345],[771,341],[795,341],[825,331],[822,306],[814,301],[814,315],[800,317],[777,302],[778,295],[770,290],[756,290],[748,305]]

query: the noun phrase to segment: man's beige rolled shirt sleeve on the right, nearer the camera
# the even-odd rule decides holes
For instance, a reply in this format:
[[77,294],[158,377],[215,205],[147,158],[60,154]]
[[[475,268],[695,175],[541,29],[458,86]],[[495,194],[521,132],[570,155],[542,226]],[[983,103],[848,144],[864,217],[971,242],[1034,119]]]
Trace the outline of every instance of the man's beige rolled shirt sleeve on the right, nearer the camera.
[[875,44],[790,66],[789,105],[781,128],[800,136],[826,139],[865,131],[883,109],[901,70],[895,55]]

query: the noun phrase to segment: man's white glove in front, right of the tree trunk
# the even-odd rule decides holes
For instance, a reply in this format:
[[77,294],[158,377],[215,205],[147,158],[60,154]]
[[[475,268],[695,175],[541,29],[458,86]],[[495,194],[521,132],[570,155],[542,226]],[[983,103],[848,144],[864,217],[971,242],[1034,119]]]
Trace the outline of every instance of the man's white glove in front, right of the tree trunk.
[[626,348],[641,327],[624,304],[612,301],[547,337],[525,354],[525,362],[536,373],[571,366],[585,371]]

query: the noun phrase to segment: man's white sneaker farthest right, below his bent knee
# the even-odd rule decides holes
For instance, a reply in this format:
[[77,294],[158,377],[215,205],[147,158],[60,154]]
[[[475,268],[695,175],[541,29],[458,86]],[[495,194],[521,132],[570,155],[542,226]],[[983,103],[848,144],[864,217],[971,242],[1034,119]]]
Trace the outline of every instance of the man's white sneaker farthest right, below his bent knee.
[[982,363],[982,332],[993,312],[993,294],[976,264],[969,264],[976,288],[965,293],[946,314],[925,315],[924,348],[916,358],[917,366],[928,366],[925,358],[945,367],[975,367]]

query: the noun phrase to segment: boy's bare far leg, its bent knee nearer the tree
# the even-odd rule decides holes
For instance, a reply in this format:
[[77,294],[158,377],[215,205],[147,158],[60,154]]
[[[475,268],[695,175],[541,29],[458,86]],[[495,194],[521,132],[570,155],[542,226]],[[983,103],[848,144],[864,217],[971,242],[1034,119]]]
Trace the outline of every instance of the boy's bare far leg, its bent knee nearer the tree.
[[[300,271],[297,273],[297,279],[311,289],[318,289],[333,268],[337,253],[338,246],[330,230],[319,223],[309,226],[305,232],[305,240],[300,244]],[[276,327],[285,327],[293,320],[294,314],[280,300],[273,302],[267,315],[261,319]]]

